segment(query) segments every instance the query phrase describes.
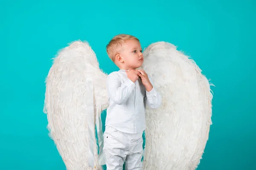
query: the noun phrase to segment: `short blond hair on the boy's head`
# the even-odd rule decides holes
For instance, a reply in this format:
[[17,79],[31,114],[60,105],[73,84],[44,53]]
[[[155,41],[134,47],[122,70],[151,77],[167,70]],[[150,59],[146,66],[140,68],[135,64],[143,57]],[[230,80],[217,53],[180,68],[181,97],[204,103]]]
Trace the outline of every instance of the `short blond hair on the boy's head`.
[[138,40],[136,37],[128,34],[118,34],[111,39],[106,46],[108,57],[114,62],[116,54],[122,51],[123,44],[128,40]]

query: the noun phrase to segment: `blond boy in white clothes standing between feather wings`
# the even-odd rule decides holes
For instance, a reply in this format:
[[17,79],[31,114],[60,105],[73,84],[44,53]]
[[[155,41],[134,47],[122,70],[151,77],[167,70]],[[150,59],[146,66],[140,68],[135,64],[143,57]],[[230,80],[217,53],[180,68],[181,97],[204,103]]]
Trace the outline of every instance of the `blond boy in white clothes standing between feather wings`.
[[109,107],[104,132],[104,153],[108,170],[141,170],[145,105],[158,108],[162,98],[151,79],[140,68],[143,54],[140,41],[119,34],[107,45],[107,53],[119,67],[107,78]]

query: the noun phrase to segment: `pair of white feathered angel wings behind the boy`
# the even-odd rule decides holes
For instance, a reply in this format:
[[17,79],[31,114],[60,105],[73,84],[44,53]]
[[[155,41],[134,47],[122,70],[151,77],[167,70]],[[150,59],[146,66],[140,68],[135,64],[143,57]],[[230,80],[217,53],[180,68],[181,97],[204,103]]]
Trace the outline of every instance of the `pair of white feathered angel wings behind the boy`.
[[[195,170],[212,124],[211,84],[168,42],[149,45],[143,56],[142,68],[162,100],[160,107],[152,109],[149,102],[145,109],[143,170]],[[101,113],[111,105],[107,77],[81,41],[62,49],[49,70],[44,112],[68,170],[101,170],[106,164]]]

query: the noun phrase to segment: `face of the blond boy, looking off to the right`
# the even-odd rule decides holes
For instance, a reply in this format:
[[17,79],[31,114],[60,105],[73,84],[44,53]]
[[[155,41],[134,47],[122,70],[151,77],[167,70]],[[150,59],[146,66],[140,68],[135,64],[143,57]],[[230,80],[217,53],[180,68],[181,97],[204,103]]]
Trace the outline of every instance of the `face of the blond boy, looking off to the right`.
[[141,67],[143,64],[143,54],[140,42],[137,40],[128,40],[125,42],[120,56],[122,57],[125,69]]

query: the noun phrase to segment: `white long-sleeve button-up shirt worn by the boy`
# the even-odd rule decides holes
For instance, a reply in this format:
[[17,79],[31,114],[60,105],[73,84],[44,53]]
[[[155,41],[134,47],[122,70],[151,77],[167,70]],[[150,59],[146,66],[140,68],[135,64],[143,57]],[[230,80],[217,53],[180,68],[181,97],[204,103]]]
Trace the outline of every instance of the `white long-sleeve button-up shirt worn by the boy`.
[[[150,77],[149,80],[153,85]],[[141,80],[132,82],[125,72],[112,72],[107,78],[109,107],[105,126],[111,126],[125,133],[140,133],[145,130],[145,107],[158,108],[162,97],[153,88],[146,91]]]

